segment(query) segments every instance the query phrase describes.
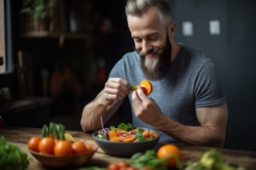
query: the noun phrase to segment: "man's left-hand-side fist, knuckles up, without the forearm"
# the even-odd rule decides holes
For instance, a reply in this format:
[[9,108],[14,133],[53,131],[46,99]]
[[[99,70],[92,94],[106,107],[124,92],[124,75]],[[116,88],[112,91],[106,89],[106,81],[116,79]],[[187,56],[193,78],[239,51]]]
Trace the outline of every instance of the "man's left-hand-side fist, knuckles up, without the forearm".
[[131,93],[131,84],[122,78],[109,78],[99,96],[102,105],[112,105],[115,100],[123,100]]

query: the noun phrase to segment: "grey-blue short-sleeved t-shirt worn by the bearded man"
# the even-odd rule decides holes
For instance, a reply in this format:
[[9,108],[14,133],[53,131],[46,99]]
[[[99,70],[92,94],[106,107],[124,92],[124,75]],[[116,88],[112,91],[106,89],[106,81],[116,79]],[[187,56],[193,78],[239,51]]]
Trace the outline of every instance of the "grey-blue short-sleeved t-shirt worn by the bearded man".
[[[148,79],[143,74],[140,62],[137,52],[125,54],[114,65],[109,77],[122,77],[131,85]],[[150,82],[153,91],[148,97],[154,99],[166,116],[184,125],[199,125],[195,108],[220,105],[225,102],[221,78],[212,60],[184,45],[177,54],[177,58],[172,61],[171,69],[166,76],[161,80],[150,80]],[[131,102],[131,94],[129,99]],[[154,129],[138,119],[133,111],[132,121],[136,127]],[[161,143],[178,142],[172,136],[155,130],[161,135]]]

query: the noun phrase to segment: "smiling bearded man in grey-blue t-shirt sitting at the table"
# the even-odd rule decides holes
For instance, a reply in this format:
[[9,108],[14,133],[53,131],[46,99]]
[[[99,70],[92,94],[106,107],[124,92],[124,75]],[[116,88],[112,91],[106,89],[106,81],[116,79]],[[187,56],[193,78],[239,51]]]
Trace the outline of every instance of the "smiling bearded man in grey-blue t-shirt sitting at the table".
[[[176,26],[167,0],[128,0],[125,6],[135,51],[113,67],[96,99],[84,106],[84,132],[101,128],[128,96],[135,127],[153,128],[160,143],[224,145],[228,108],[215,65],[174,39]],[[131,84],[148,79],[146,96]]]

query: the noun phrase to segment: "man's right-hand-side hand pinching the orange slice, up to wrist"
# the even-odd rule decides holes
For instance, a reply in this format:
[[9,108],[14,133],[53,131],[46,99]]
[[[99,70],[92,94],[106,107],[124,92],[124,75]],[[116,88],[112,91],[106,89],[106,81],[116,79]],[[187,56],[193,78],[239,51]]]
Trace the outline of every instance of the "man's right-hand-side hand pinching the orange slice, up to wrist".
[[154,100],[149,99],[141,88],[132,92],[131,100],[135,115],[143,122],[156,126],[156,123],[164,117],[159,106]]

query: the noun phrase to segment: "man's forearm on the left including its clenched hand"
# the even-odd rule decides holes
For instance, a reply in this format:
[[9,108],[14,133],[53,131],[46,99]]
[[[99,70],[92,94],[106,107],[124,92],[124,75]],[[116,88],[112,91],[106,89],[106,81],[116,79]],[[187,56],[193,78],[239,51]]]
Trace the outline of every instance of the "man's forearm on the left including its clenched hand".
[[101,116],[104,122],[108,122],[130,92],[129,82],[121,78],[109,78],[105,88],[96,96],[96,99],[84,106],[81,118],[81,127],[84,132],[99,129]]

